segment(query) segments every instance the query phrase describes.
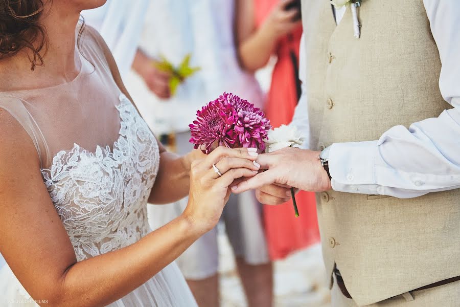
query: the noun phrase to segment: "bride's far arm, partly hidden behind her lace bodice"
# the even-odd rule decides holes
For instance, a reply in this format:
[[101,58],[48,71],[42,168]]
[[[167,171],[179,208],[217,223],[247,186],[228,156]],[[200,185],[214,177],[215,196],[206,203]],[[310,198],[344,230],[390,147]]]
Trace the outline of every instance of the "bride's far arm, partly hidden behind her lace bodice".
[[[135,106],[135,102],[126,90],[120,76],[117,63],[104,39],[94,28],[91,28],[90,26],[86,27],[87,29],[85,31],[87,31],[91,37],[97,41],[104,53],[104,57],[107,60],[113,79],[123,94],[125,94]],[[169,204],[188,195],[190,188],[190,166],[194,160],[203,159],[205,156],[201,153],[201,151],[193,150],[187,155],[179,157],[175,153],[168,152],[160,142],[158,142],[158,146],[160,151],[160,165],[155,185],[153,186],[149,196],[149,203]]]

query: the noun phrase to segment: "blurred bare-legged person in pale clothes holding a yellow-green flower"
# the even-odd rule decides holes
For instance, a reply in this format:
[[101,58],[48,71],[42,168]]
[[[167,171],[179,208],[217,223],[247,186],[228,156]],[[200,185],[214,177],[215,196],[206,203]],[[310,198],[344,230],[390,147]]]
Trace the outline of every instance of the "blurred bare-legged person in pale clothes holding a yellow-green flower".
[[[261,106],[262,91],[252,74],[238,64],[234,44],[235,3],[225,0],[151,2],[140,48],[126,86],[141,114],[162,141],[187,153],[193,149],[189,124],[196,111],[224,91]],[[171,74],[160,72],[160,57],[177,66],[191,55],[200,70],[185,79],[175,94]],[[181,214],[187,200],[171,206],[150,206],[153,229]],[[236,264],[249,306],[272,304],[272,266],[268,256],[261,204],[254,192],[231,196],[221,220],[236,255]],[[200,306],[219,305],[217,229],[206,233],[177,260]]]

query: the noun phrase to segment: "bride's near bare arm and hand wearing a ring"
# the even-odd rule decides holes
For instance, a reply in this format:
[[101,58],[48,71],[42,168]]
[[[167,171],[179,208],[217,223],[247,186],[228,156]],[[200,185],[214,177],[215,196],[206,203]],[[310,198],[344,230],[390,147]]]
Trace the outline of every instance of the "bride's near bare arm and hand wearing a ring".
[[[217,224],[235,178],[255,174],[249,168],[256,157],[218,148],[194,162],[182,215],[131,246],[77,262],[43,184],[35,147],[2,109],[0,144],[0,253],[32,298],[47,300],[46,306],[104,306],[130,293]],[[225,156],[235,159],[222,164]],[[228,169],[223,177],[216,177],[213,163]]]

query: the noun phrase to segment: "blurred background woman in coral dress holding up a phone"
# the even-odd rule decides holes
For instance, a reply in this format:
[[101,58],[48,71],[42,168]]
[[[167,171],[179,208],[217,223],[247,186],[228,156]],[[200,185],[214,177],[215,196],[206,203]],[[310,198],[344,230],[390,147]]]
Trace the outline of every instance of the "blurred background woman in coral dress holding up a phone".
[[[302,36],[300,2],[239,0],[238,4],[240,64],[245,70],[254,72],[264,67],[272,55],[277,56],[265,113],[273,127],[289,124],[302,92],[297,70]],[[308,123],[300,128],[308,130]],[[284,258],[295,250],[319,242],[314,193],[301,191],[296,200],[299,217],[294,215],[291,200],[283,206],[264,206],[271,259]]]

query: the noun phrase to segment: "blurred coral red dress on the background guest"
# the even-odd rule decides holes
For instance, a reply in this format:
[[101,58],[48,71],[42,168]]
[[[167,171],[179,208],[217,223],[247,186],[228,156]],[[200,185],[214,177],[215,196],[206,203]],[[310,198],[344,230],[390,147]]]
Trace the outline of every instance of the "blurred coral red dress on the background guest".
[[[256,25],[259,27],[279,0],[255,0]],[[273,127],[288,124],[298,101],[298,50],[302,26],[282,37],[275,52],[275,64],[265,113]],[[294,58],[295,55],[295,58]],[[295,62],[295,65],[294,65]],[[299,217],[295,217],[292,201],[280,206],[264,206],[265,230],[270,257],[280,259],[293,251],[319,242],[315,196],[301,191],[295,196]]]

